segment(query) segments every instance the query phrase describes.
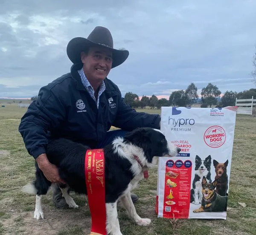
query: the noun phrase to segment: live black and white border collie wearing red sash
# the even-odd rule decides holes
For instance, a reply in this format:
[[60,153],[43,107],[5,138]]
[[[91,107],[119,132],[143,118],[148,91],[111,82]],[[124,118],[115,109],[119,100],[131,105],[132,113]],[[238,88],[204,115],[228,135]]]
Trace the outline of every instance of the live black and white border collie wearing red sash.
[[[67,183],[61,185],[62,194],[71,208],[77,208],[67,193],[72,191],[87,195],[84,158],[88,147],[67,139],[51,140],[47,145],[47,157],[58,167],[60,177]],[[117,215],[117,201],[125,207],[128,215],[138,225],[148,225],[151,220],[137,215],[130,191],[143,179],[143,171],[157,163],[157,157],[176,156],[180,149],[167,142],[164,134],[157,129],[141,127],[129,132],[124,138],[118,137],[104,148],[105,154],[105,202],[106,229],[111,235],[122,235]],[[42,195],[47,194],[51,182],[36,166],[36,179],[23,187],[23,192],[35,193],[34,218],[44,218],[41,206]]]

